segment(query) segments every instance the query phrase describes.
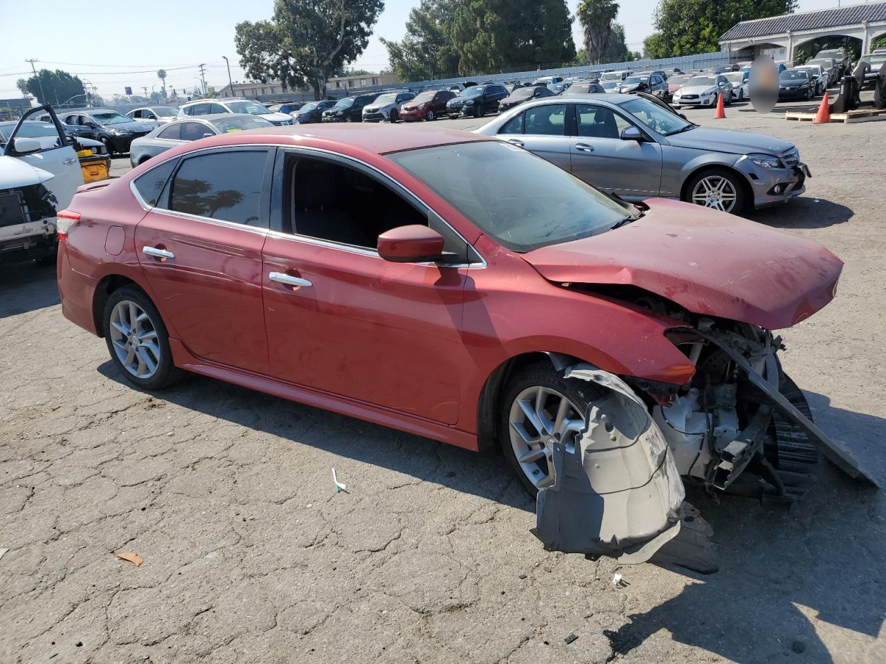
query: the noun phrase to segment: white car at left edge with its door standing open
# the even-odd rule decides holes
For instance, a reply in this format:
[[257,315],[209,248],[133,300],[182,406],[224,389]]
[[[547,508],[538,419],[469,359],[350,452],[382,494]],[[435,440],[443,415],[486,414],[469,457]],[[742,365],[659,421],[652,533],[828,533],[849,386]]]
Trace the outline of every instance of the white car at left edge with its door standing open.
[[22,121],[49,112],[56,135],[12,131],[0,156],[0,259],[55,260],[57,214],[83,183],[74,146],[51,106],[28,111]]

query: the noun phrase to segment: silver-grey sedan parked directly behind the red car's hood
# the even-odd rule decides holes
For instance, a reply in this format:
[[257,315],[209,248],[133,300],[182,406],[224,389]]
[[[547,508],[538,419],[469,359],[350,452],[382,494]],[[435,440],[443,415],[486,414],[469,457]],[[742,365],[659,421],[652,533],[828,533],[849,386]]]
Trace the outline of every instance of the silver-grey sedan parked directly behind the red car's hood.
[[738,213],[799,196],[810,176],[793,144],[699,127],[649,95],[548,97],[475,131],[627,200],[679,198]]

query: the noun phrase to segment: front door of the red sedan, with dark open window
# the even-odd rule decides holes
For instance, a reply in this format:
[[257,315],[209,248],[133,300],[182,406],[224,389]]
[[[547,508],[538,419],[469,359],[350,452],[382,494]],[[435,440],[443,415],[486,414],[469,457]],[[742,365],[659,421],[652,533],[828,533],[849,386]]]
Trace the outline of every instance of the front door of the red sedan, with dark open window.
[[282,232],[268,235],[262,269],[270,373],[455,424],[466,268],[375,250],[385,230],[427,225],[427,210],[365,166],[298,152],[278,159],[274,189]]

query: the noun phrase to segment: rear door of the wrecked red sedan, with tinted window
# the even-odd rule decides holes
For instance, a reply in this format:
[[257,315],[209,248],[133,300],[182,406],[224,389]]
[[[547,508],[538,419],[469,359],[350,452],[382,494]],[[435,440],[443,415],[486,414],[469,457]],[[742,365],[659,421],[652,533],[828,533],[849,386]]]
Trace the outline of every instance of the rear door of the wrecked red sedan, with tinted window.
[[[183,158],[135,237],[170,334],[198,358],[261,374],[268,371],[261,248],[272,160],[263,148]],[[152,174],[167,163],[137,178],[136,188],[144,178],[151,190]]]

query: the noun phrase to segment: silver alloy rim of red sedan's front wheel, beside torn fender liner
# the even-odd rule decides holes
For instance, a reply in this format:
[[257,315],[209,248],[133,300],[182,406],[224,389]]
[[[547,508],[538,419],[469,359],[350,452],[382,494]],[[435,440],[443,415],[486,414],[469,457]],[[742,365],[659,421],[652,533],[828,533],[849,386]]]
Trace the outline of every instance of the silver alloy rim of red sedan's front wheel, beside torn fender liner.
[[585,421],[579,409],[563,394],[534,385],[514,399],[508,423],[517,464],[536,489],[544,489],[556,479],[549,457],[551,446],[561,442],[567,453],[575,452],[576,436]]

